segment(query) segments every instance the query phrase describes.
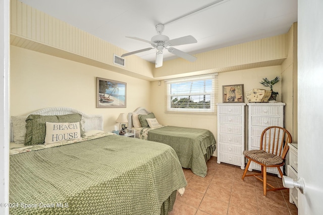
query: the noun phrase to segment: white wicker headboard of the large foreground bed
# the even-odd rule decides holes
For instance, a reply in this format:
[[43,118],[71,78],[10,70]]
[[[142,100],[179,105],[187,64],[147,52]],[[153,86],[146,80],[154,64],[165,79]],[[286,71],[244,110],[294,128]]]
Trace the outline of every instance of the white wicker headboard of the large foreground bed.
[[[88,115],[82,113],[73,108],[69,107],[51,107],[51,108],[43,108],[37,111],[34,111],[30,114],[38,114],[38,115],[65,115],[70,113],[79,113],[82,115],[82,120],[84,121],[84,130],[103,130],[103,116],[102,115]],[[12,123],[10,123],[10,141],[14,141],[14,134],[12,132]]]

